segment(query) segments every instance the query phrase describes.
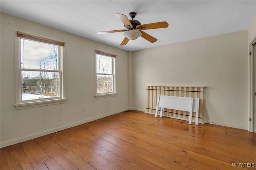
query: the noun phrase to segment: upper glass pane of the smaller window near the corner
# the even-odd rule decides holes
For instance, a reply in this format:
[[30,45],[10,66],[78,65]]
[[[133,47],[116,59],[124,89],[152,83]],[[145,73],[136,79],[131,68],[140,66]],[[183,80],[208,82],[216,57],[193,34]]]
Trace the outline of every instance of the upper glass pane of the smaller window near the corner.
[[96,56],[97,73],[112,74],[112,57]]

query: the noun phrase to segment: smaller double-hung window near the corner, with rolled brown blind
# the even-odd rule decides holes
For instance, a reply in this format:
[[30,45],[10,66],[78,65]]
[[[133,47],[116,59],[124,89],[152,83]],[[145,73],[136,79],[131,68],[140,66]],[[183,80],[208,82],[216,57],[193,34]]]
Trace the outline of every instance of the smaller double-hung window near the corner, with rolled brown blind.
[[96,51],[96,95],[115,93],[116,55]]

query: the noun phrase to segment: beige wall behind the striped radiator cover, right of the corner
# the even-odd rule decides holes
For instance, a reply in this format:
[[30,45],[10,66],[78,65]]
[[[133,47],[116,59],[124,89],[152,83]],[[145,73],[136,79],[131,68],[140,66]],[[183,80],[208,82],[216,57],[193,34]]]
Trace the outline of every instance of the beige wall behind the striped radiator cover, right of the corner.
[[248,31],[134,51],[132,67],[134,109],[145,85],[206,86],[204,121],[247,129]]

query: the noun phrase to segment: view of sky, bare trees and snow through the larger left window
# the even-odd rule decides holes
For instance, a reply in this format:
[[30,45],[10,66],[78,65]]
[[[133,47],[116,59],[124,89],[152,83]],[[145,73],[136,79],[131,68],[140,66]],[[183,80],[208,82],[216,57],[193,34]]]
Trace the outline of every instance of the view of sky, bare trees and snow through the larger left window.
[[58,46],[24,41],[24,49],[21,52],[23,51],[22,101],[60,97]]

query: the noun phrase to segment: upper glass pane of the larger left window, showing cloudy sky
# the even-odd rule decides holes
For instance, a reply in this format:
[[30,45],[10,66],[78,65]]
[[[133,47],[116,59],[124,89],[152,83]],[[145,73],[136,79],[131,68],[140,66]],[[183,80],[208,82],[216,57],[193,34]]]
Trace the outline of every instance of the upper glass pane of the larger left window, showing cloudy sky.
[[20,39],[20,68],[59,70],[59,47]]

